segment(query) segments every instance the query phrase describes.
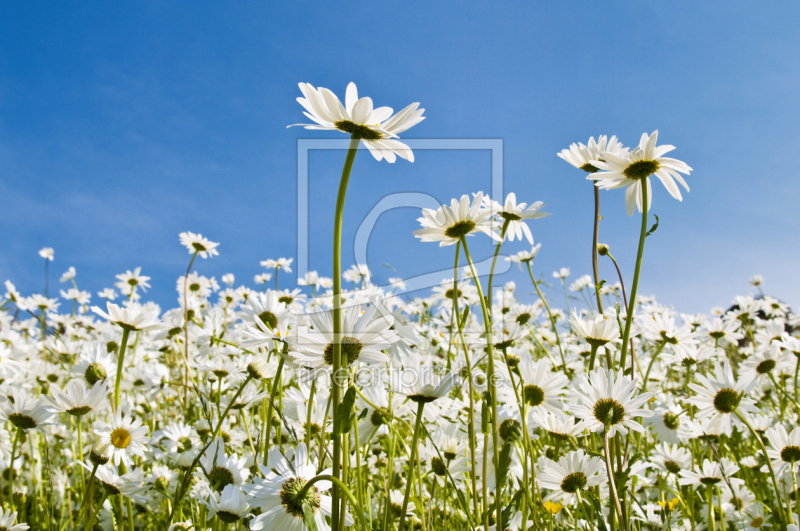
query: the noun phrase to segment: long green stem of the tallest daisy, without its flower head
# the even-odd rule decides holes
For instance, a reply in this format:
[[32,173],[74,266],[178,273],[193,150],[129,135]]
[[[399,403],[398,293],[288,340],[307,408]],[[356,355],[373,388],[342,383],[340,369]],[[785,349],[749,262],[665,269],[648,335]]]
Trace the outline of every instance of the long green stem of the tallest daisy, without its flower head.
[[[342,367],[342,309],[341,309],[341,291],[342,291],[342,218],[344,217],[344,200],[347,195],[347,182],[350,180],[350,171],[353,169],[353,161],[356,158],[358,151],[358,143],[360,139],[353,135],[350,139],[350,147],[347,150],[347,158],[344,162],[342,169],[342,178],[339,181],[339,194],[336,198],[336,214],[333,224],[333,373],[331,377],[331,393],[334,423],[335,417],[339,414],[339,400],[340,400],[340,386],[339,386],[339,370]],[[333,434],[333,477],[337,480],[341,476],[341,458],[342,458],[342,437],[339,434]],[[339,529],[339,490],[334,487],[331,491],[333,512],[331,515],[332,525],[331,529]]]

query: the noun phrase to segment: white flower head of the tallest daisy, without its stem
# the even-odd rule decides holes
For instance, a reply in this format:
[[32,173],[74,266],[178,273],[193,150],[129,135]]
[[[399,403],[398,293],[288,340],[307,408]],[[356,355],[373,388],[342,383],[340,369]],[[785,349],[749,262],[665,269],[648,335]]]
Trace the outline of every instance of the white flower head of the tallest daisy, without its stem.
[[[358,97],[355,83],[347,85],[345,105],[330,90],[314,88],[308,83],[300,83],[304,98],[297,98],[307,112],[308,118],[316,124],[293,124],[306,129],[339,130],[361,139],[376,160],[385,158],[388,162],[397,160],[395,155],[414,162],[414,153],[402,142],[395,140],[398,134],[410,129],[425,119],[425,109],[418,109],[419,103],[412,103],[392,116],[390,107],[373,109],[371,98]],[[291,125],[289,127],[292,127]]]

